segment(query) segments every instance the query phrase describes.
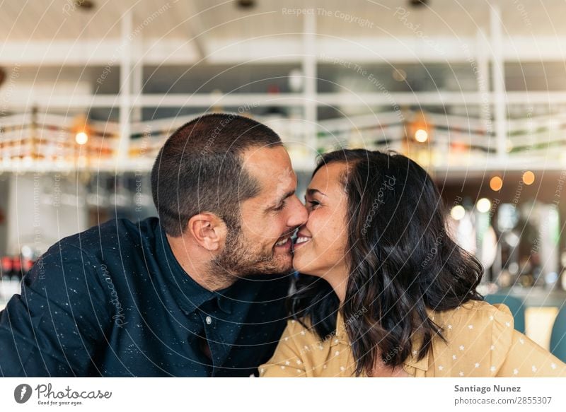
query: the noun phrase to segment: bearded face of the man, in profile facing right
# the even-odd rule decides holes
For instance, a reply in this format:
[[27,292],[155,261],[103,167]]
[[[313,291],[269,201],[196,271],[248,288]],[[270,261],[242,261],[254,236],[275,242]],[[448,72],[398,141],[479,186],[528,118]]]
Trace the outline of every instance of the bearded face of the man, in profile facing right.
[[229,230],[215,263],[237,276],[289,273],[291,235],[307,219],[289,155],[281,146],[252,148],[243,154],[243,168],[260,182],[260,193],[240,205],[241,228]]

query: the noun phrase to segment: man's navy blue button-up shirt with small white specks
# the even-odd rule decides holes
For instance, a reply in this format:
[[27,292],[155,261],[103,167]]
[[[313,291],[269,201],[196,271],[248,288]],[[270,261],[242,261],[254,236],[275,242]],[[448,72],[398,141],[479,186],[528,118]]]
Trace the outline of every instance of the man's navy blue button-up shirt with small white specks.
[[0,375],[248,377],[275,351],[289,281],[212,292],[157,218],[110,220],[57,242],[23,278],[0,312]]

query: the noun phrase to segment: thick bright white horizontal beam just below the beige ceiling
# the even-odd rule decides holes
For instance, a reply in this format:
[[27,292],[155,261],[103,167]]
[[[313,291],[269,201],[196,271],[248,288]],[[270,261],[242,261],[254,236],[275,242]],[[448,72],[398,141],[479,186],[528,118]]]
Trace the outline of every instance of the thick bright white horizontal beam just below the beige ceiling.
[[[303,37],[301,35],[270,35],[255,39],[209,40],[207,49],[213,50],[207,57],[210,64],[233,64],[255,61],[258,64],[281,62],[301,63]],[[465,62],[468,54],[463,45],[474,45],[474,37],[431,37],[423,47],[413,37],[359,37],[342,39],[317,35],[318,60],[325,55],[329,59],[346,59],[364,62],[409,63]],[[566,37],[502,37],[503,61],[564,61],[563,45]],[[110,59],[120,59],[115,52],[120,39],[74,41],[6,41],[0,55],[0,65],[10,66],[105,66]],[[519,47],[520,46],[520,47]],[[470,50],[474,55],[476,50]],[[141,50],[132,54],[134,61],[144,64],[194,64],[200,60],[192,43],[186,39],[144,39]]]

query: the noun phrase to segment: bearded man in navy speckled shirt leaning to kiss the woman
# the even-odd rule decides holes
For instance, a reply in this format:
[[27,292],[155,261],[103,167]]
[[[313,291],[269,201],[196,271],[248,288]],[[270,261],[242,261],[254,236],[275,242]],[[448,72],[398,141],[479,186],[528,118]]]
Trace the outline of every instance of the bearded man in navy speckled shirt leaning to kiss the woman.
[[0,312],[0,375],[249,376],[270,358],[307,218],[279,136],[199,117],[151,187],[159,218],[111,220],[35,263]]

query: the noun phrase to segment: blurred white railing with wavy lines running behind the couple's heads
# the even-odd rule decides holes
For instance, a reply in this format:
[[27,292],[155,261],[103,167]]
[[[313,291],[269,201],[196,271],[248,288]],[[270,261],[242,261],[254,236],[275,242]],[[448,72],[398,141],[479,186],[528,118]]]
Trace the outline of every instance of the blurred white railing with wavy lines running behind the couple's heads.
[[[429,139],[415,141],[415,119],[424,116]],[[149,170],[175,129],[195,116],[151,119],[130,125],[127,159],[117,158],[118,122],[88,122],[88,142],[75,141],[76,119],[59,114],[24,113],[0,118],[0,167],[5,172],[64,169]],[[495,136],[485,119],[405,110],[342,117],[318,122],[306,136],[302,119],[258,117],[282,136],[296,167],[310,170],[317,153],[336,148],[394,150],[432,168],[484,170],[505,167],[566,167],[566,114],[510,119],[507,151],[495,161]],[[308,146],[314,142],[314,146]],[[487,162],[487,160],[490,160]],[[487,162],[487,163],[486,163]]]

